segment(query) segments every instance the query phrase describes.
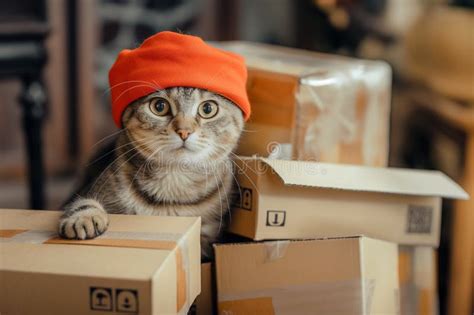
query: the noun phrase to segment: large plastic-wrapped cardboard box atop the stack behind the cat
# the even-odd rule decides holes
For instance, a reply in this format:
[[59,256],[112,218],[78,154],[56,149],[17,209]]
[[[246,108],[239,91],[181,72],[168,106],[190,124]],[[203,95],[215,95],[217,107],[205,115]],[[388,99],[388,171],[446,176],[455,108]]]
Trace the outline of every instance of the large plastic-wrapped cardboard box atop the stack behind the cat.
[[388,64],[257,43],[218,46],[248,67],[252,116],[238,154],[267,157],[290,144],[279,158],[387,165]]

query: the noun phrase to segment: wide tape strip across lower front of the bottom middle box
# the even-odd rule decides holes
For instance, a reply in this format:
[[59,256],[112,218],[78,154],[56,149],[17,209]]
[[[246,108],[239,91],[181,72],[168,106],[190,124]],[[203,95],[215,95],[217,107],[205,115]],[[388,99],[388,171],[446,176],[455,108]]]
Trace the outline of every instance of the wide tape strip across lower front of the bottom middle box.
[[218,307],[222,315],[369,314],[374,289],[370,279],[292,285],[221,294]]

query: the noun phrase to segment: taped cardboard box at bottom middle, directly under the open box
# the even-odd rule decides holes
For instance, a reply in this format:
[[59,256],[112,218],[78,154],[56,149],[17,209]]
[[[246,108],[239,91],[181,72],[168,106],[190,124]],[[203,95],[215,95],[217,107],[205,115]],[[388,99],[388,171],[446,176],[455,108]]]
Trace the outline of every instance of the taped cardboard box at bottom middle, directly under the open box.
[[214,249],[219,314],[399,314],[396,244],[349,237]]

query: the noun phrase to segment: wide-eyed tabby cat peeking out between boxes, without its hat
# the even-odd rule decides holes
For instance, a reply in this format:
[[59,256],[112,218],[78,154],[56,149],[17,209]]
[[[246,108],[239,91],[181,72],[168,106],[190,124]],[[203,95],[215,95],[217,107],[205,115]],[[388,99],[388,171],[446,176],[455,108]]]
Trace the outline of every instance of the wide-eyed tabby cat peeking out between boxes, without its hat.
[[122,126],[64,206],[59,235],[94,238],[107,213],[200,216],[202,257],[211,257],[232,202],[242,111],[210,91],[174,87],[132,102]]

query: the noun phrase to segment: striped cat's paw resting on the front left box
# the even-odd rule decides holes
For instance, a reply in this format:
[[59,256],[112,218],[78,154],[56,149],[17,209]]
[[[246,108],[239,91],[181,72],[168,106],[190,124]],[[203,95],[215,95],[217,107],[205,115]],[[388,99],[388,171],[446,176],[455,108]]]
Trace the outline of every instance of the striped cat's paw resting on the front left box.
[[101,235],[107,230],[109,219],[100,203],[81,199],[67,207],[59,220],[59,236],[85,240]]

